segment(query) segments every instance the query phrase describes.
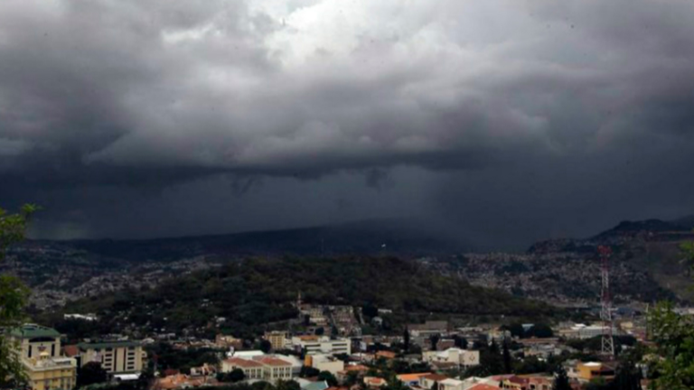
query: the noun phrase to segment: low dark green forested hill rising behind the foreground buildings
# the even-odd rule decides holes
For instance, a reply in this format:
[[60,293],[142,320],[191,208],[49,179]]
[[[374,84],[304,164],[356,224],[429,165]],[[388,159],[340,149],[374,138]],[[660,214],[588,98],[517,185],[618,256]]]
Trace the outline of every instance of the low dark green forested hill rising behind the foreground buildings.
[[118,292],[71,304],[93,311],[103,326],[200,329],[215,317],[226,327],[248,328],[296,315],[298,292],[305,302],[364,305],[394,311],[461,314],[549,315],[540,302],[474,287],[393,257],[249,259],[184,275],[149,291]]

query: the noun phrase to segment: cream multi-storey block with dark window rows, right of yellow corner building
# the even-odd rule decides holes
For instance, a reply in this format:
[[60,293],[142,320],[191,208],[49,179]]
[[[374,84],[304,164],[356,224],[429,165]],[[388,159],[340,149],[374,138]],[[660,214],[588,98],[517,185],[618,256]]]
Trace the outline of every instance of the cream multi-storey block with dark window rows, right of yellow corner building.
[[146,367],[147,354],[137,341],[114,340],[80,343],[80,366],[89,362],[101,363],[110,376],[137,374]]

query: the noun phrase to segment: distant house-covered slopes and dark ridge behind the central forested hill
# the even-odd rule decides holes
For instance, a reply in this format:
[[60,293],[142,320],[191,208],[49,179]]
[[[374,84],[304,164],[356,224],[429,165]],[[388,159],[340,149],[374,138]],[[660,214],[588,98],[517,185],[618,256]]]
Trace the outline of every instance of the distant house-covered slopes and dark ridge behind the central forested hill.
[[33,287],[34,307],[45,309],[124,288],[151,289],[249,257],[388,255],[517,296],[589,305],[599,290],[596,247],[608,245],[616,302],[689,300],[678,245],[694,238],[691,228],[694,218],[625,221],[594,237],[538,242],[522,254],[471,253],[467,243],[400,220],[206,237],[28,241],[14,246],[2,271],[20,275]]

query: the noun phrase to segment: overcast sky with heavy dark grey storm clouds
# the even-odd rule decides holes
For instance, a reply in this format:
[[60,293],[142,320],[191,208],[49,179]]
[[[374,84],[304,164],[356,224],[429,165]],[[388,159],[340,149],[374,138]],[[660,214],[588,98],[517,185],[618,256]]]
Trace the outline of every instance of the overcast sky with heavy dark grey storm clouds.
[[427,217],[526,246],[694,213],[691,0],[3,0],[34,237]]

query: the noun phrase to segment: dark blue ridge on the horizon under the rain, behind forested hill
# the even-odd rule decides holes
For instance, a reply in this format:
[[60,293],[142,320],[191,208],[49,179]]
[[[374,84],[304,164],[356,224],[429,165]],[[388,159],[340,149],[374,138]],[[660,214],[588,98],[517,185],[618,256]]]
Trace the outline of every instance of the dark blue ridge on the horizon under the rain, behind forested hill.
[[65,246],[127,261],[175,260],[198,255],[431,255],[463,251],[414,219],[374,219],[314,228],[148,240],[76,240]]

